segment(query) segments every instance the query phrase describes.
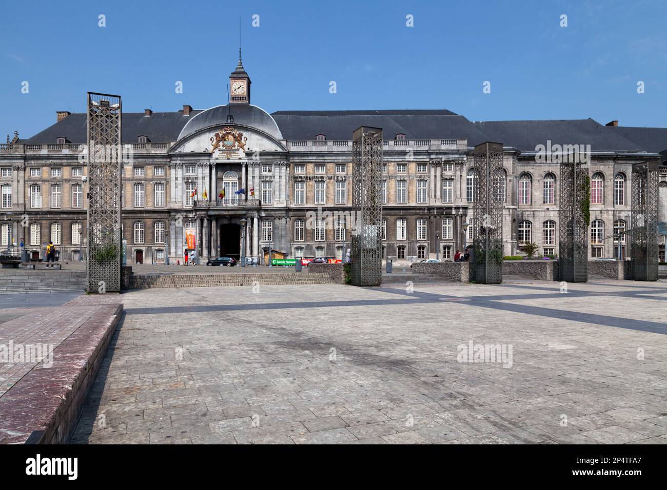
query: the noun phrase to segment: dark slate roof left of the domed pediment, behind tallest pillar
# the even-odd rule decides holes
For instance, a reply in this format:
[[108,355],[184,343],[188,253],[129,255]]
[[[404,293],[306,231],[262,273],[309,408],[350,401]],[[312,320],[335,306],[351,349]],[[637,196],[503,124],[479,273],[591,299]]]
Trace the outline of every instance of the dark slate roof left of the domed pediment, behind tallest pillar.
[[[183,112],[154,112],[150,116],[140,113],[123,113],[121,130],[123,143],[137,143],[139,136],[147,136],[155,143],[176,141],[187,121],[201,111],[192,111],[189,116]],[[23,140],[27,145],[37,143],[56,143],[59,137],[67,138],[71,143],[86,143],[87,121],[85,113],[70,114],[62,121],[47,127],[41,133]]]

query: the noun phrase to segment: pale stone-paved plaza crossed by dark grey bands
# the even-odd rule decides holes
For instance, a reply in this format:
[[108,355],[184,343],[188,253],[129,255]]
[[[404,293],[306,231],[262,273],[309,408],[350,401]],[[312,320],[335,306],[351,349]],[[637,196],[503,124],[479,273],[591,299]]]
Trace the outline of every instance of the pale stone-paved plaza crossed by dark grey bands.
[[664,282],[119,298],[73,443],[667,443]]

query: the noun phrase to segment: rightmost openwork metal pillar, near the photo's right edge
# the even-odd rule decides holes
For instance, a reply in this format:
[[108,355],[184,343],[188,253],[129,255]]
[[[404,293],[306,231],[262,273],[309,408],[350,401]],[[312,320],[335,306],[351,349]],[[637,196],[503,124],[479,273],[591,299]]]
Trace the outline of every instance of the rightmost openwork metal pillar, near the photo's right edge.
[[631,257],[632,280],[658,280],[658,162],[632,165]]

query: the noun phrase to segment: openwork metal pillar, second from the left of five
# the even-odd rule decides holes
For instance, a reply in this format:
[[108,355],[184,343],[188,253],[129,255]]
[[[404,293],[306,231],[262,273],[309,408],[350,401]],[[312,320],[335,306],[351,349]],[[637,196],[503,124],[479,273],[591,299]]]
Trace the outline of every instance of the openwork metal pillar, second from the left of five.
[[[352,284],[382,281],[382,129],[352,133]],[[343,252],[345,256],[345,251]]]

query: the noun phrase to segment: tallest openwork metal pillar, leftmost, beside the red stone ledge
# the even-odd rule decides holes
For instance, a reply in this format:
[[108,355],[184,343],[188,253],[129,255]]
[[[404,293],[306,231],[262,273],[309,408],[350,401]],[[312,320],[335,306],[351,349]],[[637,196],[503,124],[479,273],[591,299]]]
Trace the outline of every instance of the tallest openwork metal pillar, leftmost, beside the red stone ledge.
[[121,289],[121,97],[88,93],[86,291]]

